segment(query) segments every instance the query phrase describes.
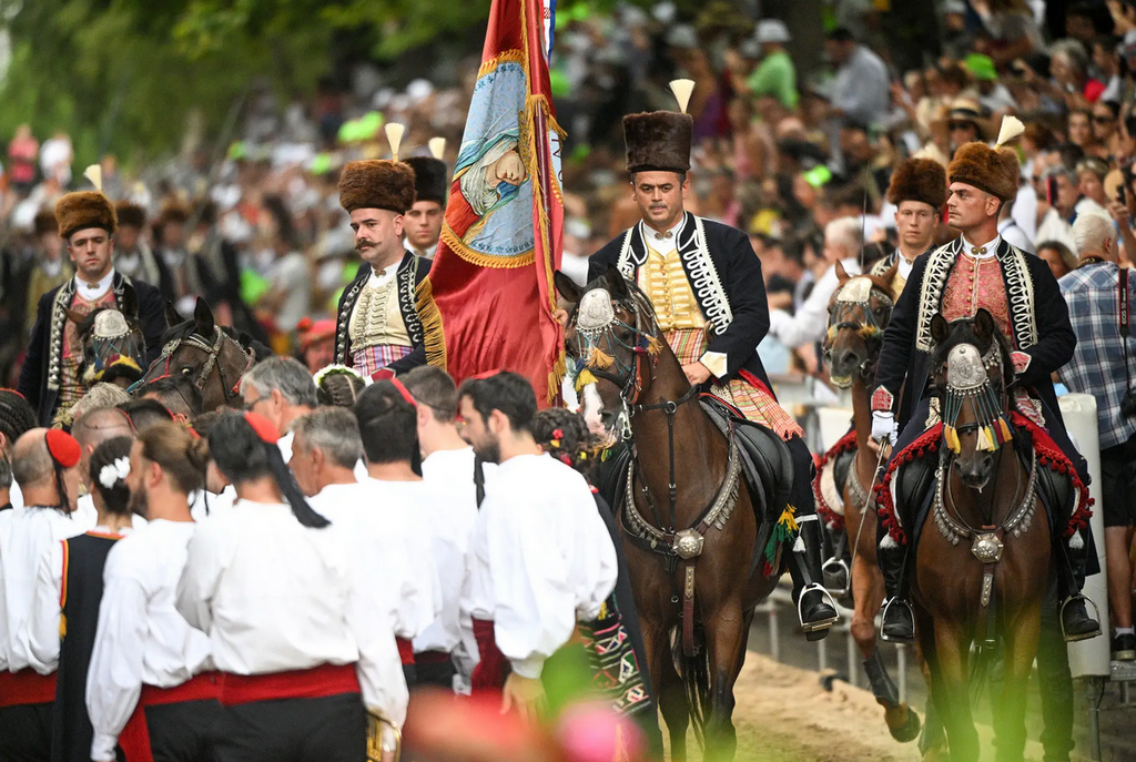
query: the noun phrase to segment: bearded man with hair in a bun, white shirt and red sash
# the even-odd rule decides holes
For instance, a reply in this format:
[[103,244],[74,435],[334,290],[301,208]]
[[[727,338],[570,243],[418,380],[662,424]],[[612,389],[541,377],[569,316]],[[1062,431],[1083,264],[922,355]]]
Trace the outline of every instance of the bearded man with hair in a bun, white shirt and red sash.
[[[220,714],[209,636],[190,627],[174,601],[197,525],[189,494],[202,487],[208,444],[176,424],[157,424],[130,450],[131,510],[144,528],[117,544],[105,589],[87,678],[94,738],[89,760],[110,762],[115,748],[160,760],[212,759]],[[149,748],[130,744],[145,728]],[[120,740],[119,740],[120,738]]]

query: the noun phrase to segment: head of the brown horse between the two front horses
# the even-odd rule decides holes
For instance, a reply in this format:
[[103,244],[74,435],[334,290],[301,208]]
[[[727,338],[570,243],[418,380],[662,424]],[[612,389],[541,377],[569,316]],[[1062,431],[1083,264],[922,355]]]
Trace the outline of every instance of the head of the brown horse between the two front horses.
[[884,344],[884,329],[892,319],[892,280],[897,265],[882,276],[850,276],[836,262],[840,283],[828,302],[828,333],[825,361],[829,379],[838,388],[849,388],[857,376],[870,380]]

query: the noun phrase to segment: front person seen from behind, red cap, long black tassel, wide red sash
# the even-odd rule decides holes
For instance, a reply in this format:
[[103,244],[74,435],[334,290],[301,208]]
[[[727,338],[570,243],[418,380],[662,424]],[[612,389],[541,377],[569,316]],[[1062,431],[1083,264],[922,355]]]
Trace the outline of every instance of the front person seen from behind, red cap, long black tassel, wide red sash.
[[253,412],[214,425],[209,451],[237,501],[198,527],[177,589],[223,672],[214,759],[358,762],[394,639],[352,581],[349,537],[308,504],[276,439]]

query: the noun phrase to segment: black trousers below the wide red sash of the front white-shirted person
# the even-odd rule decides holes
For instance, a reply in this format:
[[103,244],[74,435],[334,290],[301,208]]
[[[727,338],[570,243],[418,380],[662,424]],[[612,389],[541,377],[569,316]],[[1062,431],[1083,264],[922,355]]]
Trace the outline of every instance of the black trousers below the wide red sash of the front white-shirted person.
[[215,762],[367,759],[367,710],[357,693],[226,706],[216,728]]

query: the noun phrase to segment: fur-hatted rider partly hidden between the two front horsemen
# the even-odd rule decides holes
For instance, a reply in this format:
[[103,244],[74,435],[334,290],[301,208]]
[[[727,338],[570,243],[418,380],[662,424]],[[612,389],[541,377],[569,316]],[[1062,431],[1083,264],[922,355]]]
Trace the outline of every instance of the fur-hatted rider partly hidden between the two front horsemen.
[[892,295],[903,293],[911,268],[919,254],[932,250],[938,219],[946,203],[946,173],[933,159],[907,159],[895,168],[887,186],[887,202],[895,204],[895,232],[900,245],[876,262],[871,275],[880,276],[899,262],[892,280]]

